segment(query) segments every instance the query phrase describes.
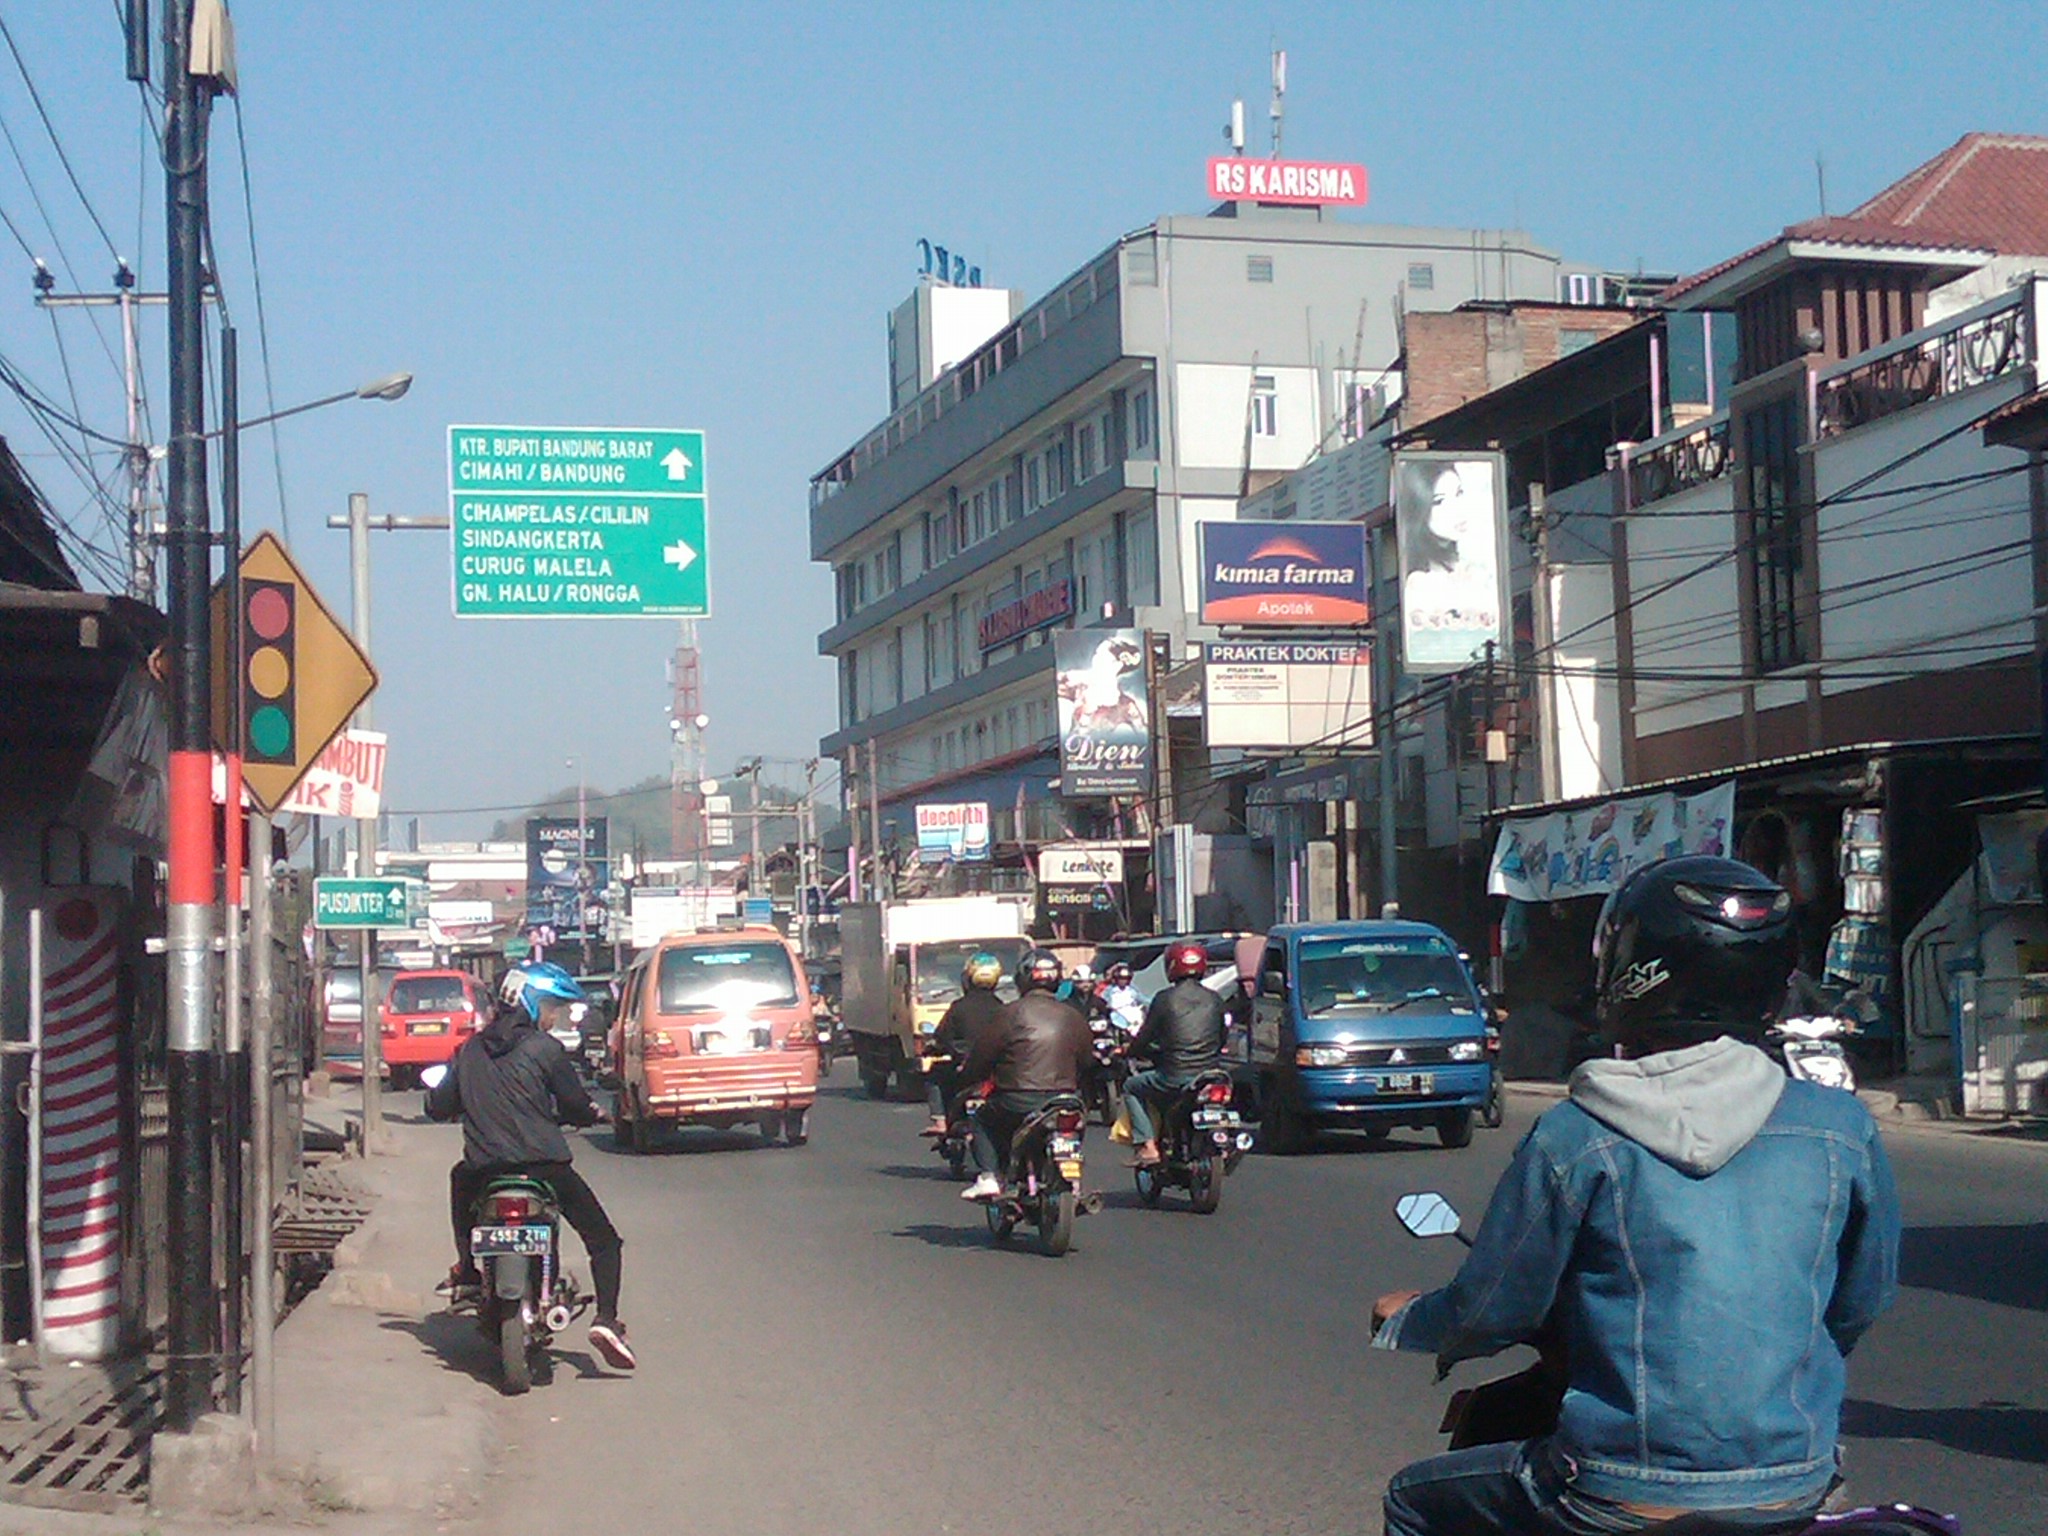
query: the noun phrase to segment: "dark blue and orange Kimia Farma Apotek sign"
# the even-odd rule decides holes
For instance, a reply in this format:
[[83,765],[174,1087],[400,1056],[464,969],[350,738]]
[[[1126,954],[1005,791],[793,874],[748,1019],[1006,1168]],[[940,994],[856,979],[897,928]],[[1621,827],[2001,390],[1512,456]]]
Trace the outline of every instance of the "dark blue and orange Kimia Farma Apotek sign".
[[1202,522],[1202,623],[1341,629],[1372,618],[1360,522]]

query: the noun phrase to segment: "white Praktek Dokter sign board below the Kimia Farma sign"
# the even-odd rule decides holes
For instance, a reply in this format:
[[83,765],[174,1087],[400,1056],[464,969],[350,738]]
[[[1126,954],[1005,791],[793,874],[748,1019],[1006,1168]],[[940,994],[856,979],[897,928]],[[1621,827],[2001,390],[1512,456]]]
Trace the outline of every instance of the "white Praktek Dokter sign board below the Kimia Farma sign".
[[1370,748],[1372,647],[1223,641],[1202,651],[1212,748]]

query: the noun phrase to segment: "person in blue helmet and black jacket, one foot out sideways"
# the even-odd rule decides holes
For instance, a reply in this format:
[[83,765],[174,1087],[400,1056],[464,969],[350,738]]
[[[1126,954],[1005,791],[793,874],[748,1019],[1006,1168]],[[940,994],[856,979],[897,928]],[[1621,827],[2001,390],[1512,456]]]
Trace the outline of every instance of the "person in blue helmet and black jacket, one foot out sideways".
[[463,1161],[449,1169],[449,1214],[455,1223],[455,1270],[444,1290],[479,1290],[483,1276],[469,1253],[469,1223],[483,1186],[500,1174],[526,1174],[555,1192],[563,1219],[575,1227],[590,1253],[590,1280],[598,1315],[590,1325],[590,1346],[616,1370],[637,1364],[618,1321],[621,1249],[618,1229],[584,1176],[569,1165],[563,1124],[596,1124],[602,1110],[584,1092],[575,1063],[549,1026],[582,987],[559,965],[535,963],[506,971],[498,1008],[477,1034],[463,1042],[449,1073],[426,1096],[434,1120],[463,1122]]

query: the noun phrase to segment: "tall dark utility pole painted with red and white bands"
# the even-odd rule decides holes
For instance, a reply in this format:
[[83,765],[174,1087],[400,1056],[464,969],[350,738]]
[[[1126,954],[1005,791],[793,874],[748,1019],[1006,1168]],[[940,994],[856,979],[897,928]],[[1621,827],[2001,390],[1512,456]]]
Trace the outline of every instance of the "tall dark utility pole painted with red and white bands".
[[211,84],[188,70],[193,0],[164,4],[164,213],[170,301],[170,459],[164,604],[170,616],[170,848],[166,1108],[170,1296],[164,1423],[213,1407],[213,731],[207,676],[205,260]]

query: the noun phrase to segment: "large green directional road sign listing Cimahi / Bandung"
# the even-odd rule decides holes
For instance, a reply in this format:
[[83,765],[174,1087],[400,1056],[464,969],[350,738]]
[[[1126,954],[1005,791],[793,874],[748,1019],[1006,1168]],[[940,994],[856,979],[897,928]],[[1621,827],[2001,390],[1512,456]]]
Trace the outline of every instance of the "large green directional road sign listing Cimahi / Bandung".
[[451,426],[457,618],[705,618],[705,434]]

